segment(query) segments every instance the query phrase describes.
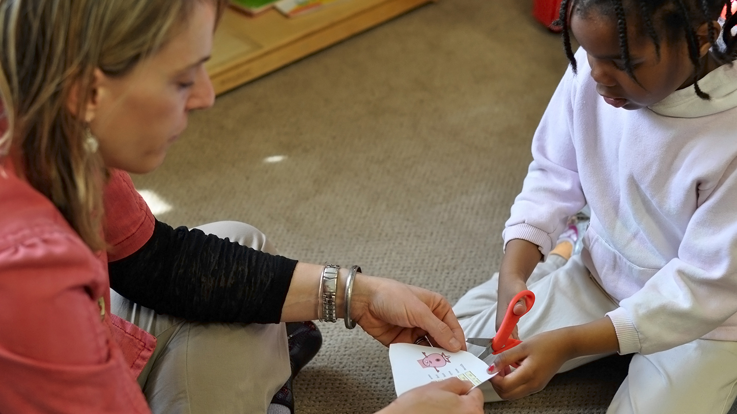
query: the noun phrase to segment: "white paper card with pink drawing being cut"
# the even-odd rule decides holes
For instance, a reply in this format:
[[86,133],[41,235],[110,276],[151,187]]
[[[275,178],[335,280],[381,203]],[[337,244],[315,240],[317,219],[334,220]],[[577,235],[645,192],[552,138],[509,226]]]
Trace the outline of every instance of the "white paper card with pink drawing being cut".
[[470,352],[449,352],[412,343],[392,343],[389,346],[389,362],[397,396],[453,376],[472,382],[476,388],[496,375],[486,372],[489,365]]

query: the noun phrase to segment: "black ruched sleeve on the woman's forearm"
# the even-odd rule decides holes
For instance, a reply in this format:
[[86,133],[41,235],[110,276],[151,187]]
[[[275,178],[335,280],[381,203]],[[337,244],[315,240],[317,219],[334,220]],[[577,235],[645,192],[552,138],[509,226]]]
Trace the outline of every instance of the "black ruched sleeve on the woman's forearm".
[[297,261],[156,221],[141,249],[108,264],[110,285],[157,313],[200,322],[275,324]]

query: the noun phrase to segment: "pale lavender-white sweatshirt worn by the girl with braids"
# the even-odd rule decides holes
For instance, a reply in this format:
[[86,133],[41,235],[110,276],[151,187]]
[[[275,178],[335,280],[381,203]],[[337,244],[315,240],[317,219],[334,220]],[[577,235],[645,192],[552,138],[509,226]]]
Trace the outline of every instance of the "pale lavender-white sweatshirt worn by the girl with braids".
[[576,53],[532,143],[505,245],[547,257],[584,204],[584,263],[620,307],[607,315],[621,354],[696,338],[737,340],[737,64],[649,108],[624,110],[596,93]]

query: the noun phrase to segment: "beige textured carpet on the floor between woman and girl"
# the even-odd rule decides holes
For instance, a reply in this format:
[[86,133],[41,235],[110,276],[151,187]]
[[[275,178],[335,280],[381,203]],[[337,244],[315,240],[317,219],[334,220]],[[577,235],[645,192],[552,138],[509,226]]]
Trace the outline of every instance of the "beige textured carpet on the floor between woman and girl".
[[[220,96],[136,185],[170,204],[161,221],[245,221],[289,257],[360,264],[455,301],[500,263],[531,136],[567,64],[530,9],[441,0]],[[359,329],[321,329],[297,412],[388,404],[387,349]],[[609,358],[486,412],[604,413],[625,374],[626,358]]]

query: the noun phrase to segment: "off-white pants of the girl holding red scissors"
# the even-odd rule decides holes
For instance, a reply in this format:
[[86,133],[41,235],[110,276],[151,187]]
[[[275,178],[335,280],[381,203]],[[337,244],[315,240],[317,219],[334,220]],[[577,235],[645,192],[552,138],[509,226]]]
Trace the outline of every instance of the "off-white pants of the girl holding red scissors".
[[[493,338],[499,274],[469,290],[453,307],[466,338]],[[565,261],[551,255],[527,282],[535,304],[517,325],[520,339],[564,326],[586,324],[618,307],[590,276],[580,255]],[[469,351],[483,348],[469,344]],[[592,355],[569,360],[559,372],[605,357]],[[694,340],[655,354],[635,354],[629,374],[609,405],[608,414],[722,414],[737,396],[737,342]],[[485,401],[500,397],[485,382]]]

